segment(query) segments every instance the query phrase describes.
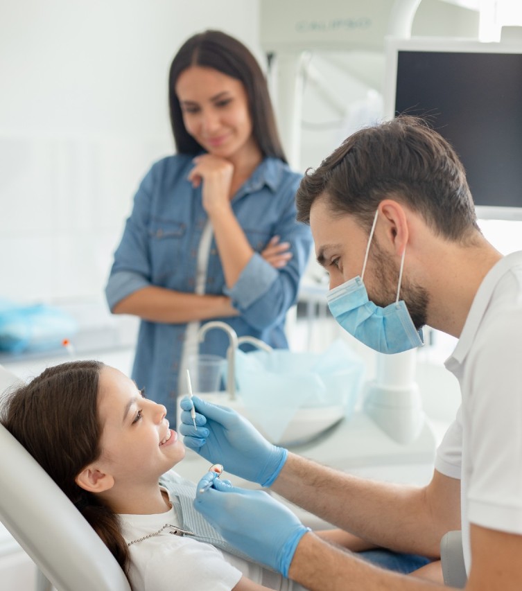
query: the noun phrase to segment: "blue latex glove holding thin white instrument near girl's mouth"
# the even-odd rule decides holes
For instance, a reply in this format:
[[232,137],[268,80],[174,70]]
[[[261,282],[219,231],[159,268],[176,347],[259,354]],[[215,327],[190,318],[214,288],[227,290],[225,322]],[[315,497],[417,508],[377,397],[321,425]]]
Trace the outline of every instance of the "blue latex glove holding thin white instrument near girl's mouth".
[[[190,414],[192,403],[197,429]],[[273,446],[241,414],[198,396],[186,396],[180,406],[183,412],[179,431],[187,448],[211,464],[223,464],[227,472],[261,486],[270,486],[279,476],[288,451]]]

